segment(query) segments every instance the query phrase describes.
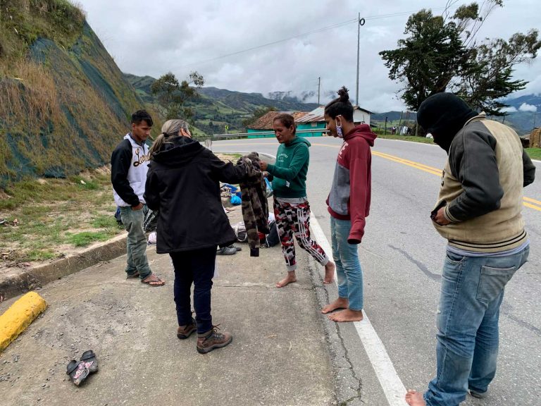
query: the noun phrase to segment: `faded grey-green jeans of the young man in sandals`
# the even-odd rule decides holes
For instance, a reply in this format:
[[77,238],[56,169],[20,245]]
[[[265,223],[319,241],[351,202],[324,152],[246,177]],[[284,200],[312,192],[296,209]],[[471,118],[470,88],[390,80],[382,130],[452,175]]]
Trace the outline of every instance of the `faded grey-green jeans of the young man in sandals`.
[[126,239],[126,254],[128,264],[126,273],[133,275],[139,272],[139,278],[147,278],[151,274],[149,261],[147,259],[147,236],[144,235],[144,215],[149,209],[144,204],[140,210],[132,210],[131,207],[120,207],[120,219],[128,231]]

